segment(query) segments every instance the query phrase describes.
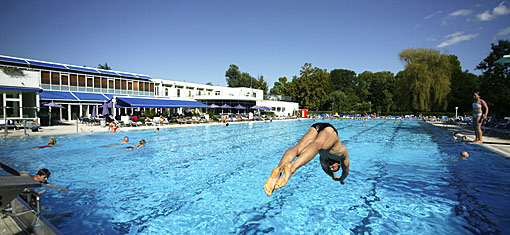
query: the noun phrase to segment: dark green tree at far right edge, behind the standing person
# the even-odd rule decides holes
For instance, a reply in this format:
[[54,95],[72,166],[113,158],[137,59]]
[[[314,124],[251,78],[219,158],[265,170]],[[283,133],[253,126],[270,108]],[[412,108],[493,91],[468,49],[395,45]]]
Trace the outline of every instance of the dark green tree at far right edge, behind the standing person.
[[500,40],[491,44],[491,53],[476,69],[482,71],[480,76],[480,96],[489,106],[489,115],[510,116],[510,68],[509,64],[498,64],[496,60],[510,54],[510,42]]

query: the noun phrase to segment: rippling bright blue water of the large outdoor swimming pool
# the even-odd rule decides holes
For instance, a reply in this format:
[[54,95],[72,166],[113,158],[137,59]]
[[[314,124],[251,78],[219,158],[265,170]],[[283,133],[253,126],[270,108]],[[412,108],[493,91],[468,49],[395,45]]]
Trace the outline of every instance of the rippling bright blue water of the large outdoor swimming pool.
[[[42,194],[66,234],[510,232],[509,160],[422,122],[329,122],[349,150],[346,184],[315,158],[271,197],[267,177],[313,121],[57,136],[39,150],[25,148],[48,137],[3,139],[0,161],[69,188]],[[97,148],[125,134],[147,146]]]

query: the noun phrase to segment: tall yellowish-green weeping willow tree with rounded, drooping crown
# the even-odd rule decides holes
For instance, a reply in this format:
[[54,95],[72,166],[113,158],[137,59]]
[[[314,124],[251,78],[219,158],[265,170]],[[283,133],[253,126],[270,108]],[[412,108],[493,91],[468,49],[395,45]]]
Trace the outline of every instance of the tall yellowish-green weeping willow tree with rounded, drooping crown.
[[448,55],[434,49],[405,49],[399,53],[405,63],[399,89],[408,89],[406,103],[411,111],[445,111],[450,92],[451,66]]

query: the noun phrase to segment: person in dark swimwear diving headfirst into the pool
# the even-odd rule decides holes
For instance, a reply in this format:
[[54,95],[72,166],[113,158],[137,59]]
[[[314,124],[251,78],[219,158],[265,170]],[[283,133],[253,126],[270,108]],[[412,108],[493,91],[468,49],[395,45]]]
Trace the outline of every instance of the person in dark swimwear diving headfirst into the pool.
[[[296,146],[283,154],[280,163],[271,172],[264,185],[267,196],[271,196],[274,190],[285,186],[292,174],[312,160],[317,153],[320,154],[322,170],[333,180],[345,184],[345,178],[349,175],[347,148],[340,142],[335,127],[329,123],[315,123]],[[292,162],[297,156],[299,157]],[[342,168],[341,177],[334,174],[340,168]]]

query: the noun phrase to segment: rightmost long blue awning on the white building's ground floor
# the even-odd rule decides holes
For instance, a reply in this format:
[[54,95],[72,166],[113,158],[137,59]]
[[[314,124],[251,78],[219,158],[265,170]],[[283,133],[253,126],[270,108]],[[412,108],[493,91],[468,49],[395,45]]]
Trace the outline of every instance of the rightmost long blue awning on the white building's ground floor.
[[209,108],[197,101],[160,98],[117,97],[117,104],[132,108]]

